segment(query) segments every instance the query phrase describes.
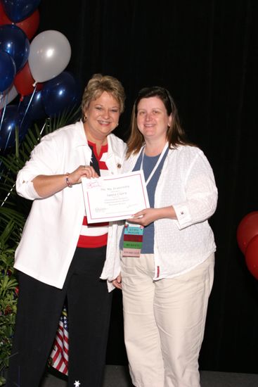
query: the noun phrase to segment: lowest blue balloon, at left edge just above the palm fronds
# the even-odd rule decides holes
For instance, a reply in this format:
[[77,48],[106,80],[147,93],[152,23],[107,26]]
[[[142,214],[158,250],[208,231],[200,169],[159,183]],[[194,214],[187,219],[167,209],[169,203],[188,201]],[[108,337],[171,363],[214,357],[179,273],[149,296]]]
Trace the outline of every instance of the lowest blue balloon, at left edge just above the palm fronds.
[[2,114],[4,118],[0,118],[0,150],[5,151],[15,145],[15,127],[18,127],[19,140],[22,141],[31,125],[31,119],[29,115],[25,115],[23,109],[18,109],[16,105],[6,106]]

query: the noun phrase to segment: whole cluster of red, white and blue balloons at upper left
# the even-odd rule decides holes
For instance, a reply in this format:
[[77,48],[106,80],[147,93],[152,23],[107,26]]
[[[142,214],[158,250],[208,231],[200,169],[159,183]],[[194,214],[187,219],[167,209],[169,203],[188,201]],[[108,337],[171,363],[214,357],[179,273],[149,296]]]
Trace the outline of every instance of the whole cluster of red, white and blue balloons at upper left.
[[[0,150],[15,144],[32,121],[58,115],[79,102],[79,83],[65,71],[67,38],[39,27],[40,0],[0,0]],[[32,39],[33,38],[33,39]],[[20,95],[18,105],[9,105]]]

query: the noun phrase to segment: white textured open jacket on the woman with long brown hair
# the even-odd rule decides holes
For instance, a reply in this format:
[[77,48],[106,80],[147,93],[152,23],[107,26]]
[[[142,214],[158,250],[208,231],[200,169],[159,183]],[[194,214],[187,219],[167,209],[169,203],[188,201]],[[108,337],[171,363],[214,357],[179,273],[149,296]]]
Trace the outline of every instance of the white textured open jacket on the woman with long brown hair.
[[[131,171],[139,156],[124,161],[122,172]],[[188,272],[214,253],[216,246],[208,219],[217,207],[217,187],[212,167],[195,146],[169,149],[155,190],[155,208],[173,205],[177,220],[155,221],[153,279],[172,278]],[[117,234],[119,243],[122,233]],[[144,238],[144,233],[143,233]],[[103,278],[120,273],[120,254],[106,261]],[[111,273],[110,267],[116,272]]]

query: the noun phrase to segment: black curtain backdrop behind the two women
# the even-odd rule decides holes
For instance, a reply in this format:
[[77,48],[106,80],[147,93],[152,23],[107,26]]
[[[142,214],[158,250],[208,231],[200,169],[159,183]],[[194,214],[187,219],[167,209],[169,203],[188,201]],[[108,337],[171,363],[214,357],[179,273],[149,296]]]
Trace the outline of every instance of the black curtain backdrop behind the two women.
[[[217,254],[200,369],[257,373],[258,281],[247,270],[236,229],[258,210],[258,1],[41,0],[39,13],[38,33],[58,30],[69,40],[67,70],[82,87],[95,72],[124,84],[119,137],[127,139],[141,87],[171,91],[219,190],[210,220]],[[127,364],[121,293],[113,296],[107,364]]]

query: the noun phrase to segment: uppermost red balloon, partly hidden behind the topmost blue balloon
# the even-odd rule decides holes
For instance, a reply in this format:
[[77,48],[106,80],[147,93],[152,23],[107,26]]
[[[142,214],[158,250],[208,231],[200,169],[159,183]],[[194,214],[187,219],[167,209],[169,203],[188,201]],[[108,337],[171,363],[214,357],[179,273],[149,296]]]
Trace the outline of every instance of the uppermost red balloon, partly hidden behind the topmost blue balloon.
[[39,28],[39,10],[36,9],[32,15],[22,20],[21,22],[13,23],[4,12],[4,7],[0,2],[0,25],[4,24],[17,25],[23,32],[25,32],[27,38],[30,40],[32,37],[34,37],[34,34],[36,34],[37,29]]

